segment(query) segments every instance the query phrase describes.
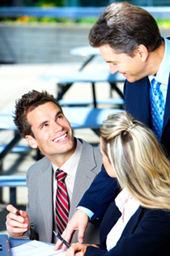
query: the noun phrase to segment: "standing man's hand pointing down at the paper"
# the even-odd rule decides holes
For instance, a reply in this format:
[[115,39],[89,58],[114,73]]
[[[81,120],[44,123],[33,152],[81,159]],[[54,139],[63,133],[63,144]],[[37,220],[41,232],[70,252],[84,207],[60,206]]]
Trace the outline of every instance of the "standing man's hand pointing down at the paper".
[[[78,241],[83,242],[84,233],[88,224],[88,216],[84,211],[75,211],[73,217],[66,226],[65,231],[62,233],[62,237],[70,243],[71,238],[76,230],[78,230]],[[62,241],[57,241],[54,250],[58,250],[62,247],[62,250],[66,250],[66,245],[62,244]]]

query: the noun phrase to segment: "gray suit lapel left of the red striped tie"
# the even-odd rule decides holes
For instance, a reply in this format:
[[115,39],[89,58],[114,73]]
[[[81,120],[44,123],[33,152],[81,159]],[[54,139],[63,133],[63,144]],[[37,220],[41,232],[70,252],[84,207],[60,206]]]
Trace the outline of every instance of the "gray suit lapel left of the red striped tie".
[[41,217],[44,219],[42,223],[45,223],[44,234],[48,241],[52,241],[53,230],[53,191],[52,191],[53,171],[49,160],[46,161],[43,166],[43,170],[37,182],[37,186],[40,191],[40,209]]

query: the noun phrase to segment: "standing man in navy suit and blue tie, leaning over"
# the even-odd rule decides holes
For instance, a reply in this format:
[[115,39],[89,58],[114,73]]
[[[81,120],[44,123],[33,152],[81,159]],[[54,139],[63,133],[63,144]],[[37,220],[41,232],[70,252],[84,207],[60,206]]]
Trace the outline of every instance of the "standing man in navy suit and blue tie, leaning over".
[[[120,72],[125,76],[125,110],[155,131],[170,157],[170,40],[160,35],[150,13],[127,2],[114,2],[91,28],[89,41],[100,49],[112,74]],[[101,182],[107,187],[110,180],[105,176],[104,181],[100,173],[79,203],[91,210],[91,220],[102,218],[107,208],[106,203],[102,205],[102,199],[107,198],[109,203],[115,197],[109,191],[104,194],[100,190]],[[77,220],[81,220],[81,226]],[[83,241],[87,220],[82,224],[83,218],[76,215],[64,234],[66,240],[69,241],[76,228],[79,241]]]

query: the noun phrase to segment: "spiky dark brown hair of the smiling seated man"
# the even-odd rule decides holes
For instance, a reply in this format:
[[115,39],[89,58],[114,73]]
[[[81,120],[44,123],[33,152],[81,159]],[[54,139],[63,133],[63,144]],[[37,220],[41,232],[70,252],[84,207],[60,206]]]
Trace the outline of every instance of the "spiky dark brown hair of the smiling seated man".
[[53,95],[50,95],[45,91],[37,92],[32,90],[31,92],[23,94],[19,100],[15,101],[14,122],[15,126],[17,126],[19,130],[19,134],[21,134],[23,138],[25,138],[26,135],[32,135],[32,137],[34,137],[31,124],[28,122],[28,113],[33,109],[36,109],[36,107],[39,105],[43,105],[47,102],[53,102],[59,109],[62,110],[61,105],[53,97]]

